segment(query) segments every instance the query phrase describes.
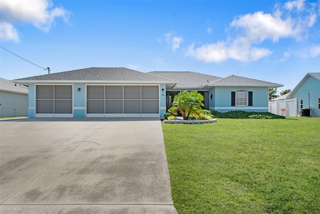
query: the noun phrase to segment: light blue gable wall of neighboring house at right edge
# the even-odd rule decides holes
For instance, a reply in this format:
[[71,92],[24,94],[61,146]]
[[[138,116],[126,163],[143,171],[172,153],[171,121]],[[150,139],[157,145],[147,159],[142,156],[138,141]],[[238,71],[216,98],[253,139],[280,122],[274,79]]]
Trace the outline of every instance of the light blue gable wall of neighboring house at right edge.
[[300,100],[303,100],[302,108],[311,108],[312,117],[320,117],[318,109],[318,98],[320,98],[320,80],[308,76],[302,85],[290,95],[291,98],[297,97],[298,113],[301,110]]

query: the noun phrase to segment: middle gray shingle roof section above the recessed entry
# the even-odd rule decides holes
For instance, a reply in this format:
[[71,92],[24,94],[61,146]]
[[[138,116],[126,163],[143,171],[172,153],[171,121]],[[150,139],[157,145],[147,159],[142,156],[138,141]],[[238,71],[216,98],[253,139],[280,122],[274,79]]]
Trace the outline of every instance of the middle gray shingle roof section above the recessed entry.
[[177,81],[177,84],[174,88],[203,88],[208,83],[222,79],[221,77],[215,77],[195,72],[153,71],[148,72],[148,74]]

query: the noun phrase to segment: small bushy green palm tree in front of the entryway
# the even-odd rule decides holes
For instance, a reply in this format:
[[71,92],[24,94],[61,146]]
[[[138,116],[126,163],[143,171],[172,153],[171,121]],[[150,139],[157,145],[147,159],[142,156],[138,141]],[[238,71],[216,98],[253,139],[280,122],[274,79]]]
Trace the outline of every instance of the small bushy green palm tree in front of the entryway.
[[177,115],[178,112],[182,115],[184,120],[187,120],[190,114],[197,115],[201,113],[204,105],[202,103],[203,96],[197,91],[180,91],[173,98],[172,107],[168,112]]

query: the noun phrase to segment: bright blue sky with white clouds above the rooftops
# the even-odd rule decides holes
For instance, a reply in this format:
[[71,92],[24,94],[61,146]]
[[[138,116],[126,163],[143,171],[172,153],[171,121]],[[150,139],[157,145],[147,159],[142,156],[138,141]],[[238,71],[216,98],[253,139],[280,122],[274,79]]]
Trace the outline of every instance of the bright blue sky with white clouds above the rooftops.
[[[319,1],[1,0],[0,45],[51,73],[88,67],[243,76],[320,72]],[[0,49],[0,76],[46,74]]]

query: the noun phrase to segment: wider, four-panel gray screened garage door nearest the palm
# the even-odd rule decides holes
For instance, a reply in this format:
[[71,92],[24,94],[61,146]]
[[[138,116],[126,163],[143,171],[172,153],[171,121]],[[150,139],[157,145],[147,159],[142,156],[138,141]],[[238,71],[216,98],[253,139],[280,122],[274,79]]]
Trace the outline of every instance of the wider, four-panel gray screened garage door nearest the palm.
[[159,86],[87,86],[87,116],[158,116]]

